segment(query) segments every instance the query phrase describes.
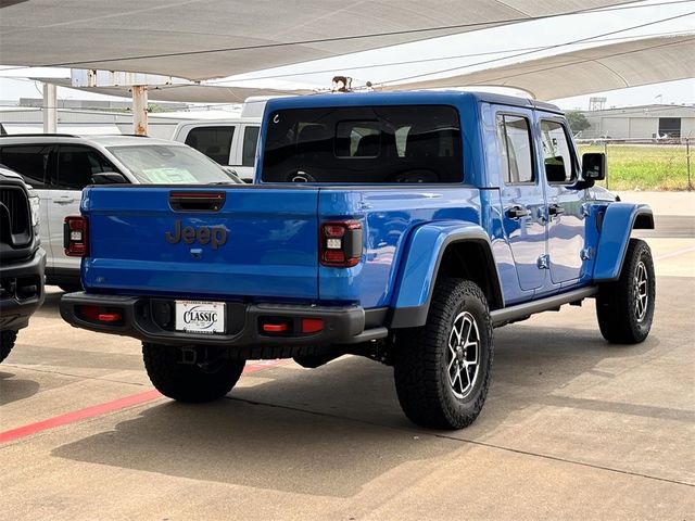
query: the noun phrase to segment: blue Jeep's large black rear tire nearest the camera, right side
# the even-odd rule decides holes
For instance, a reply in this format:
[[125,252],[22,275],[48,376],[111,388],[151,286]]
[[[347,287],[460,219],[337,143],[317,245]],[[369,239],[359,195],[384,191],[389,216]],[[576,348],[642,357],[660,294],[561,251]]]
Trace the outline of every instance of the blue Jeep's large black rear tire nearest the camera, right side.
[[[447,360],[452,358],[450,341],[454,339],[457,317],[476,322],[479,345],[478,372],[470,391],[460,395],[456,395],[455,384],[450,380],[452,366]],[[399,402],[414,423],[433,429],[463,429],[472,423],[488,395],[493,359],[492,321],[480,288],[462,279],[438,281],[427,323],[397,330],[393,357]]]

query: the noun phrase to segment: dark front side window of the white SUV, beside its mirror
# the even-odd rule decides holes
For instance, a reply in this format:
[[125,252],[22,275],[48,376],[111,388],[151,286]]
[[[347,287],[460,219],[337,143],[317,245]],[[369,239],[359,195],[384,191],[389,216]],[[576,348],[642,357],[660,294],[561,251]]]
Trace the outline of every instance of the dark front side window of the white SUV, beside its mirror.
[[103,156],[88,147],[61,145],[58,149],[58,167],[52,188],[81,190],[92,182],[92,174],[113,171],[114,167]]

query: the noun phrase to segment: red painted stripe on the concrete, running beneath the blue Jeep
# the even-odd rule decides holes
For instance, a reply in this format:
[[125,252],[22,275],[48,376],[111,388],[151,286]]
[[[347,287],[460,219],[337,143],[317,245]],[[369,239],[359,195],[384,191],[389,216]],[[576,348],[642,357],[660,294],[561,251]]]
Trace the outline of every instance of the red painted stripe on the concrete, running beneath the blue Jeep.
[[[286,364],[287,360],[264,360],[257,364],[253,364],[244,367],[244,374],[252,372],[263,371],[273,367]],[[30,436],[37,432],[53,429],[55,427],[66,425],[68,423],[75,423],[76,421],[85,420],[87,418],[93,418],[96,416],[105,415],[114,410],[124,409],[134,405],[143,404],[153,399],[162,397],[162,394],[156,390],[146,391],[144,393],[134,394],[124,398],[114,399],[113,402],[106,402],[105,404],[92,405],[85,409],[67,412],[66,415],[49,418],[48,420],[37,421],[36,423],[29,423],[28,425],[18,427],[9,431],[0,432],[0,443],[11,442],[21,437]]]

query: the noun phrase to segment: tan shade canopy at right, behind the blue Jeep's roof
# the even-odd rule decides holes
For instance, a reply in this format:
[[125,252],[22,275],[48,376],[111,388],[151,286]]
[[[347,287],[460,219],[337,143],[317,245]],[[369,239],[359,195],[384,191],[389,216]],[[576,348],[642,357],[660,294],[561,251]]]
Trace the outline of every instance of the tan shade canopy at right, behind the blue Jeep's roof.
[[498,86],[539,100],[695,77],[695,34],[642,38],[382,90]]

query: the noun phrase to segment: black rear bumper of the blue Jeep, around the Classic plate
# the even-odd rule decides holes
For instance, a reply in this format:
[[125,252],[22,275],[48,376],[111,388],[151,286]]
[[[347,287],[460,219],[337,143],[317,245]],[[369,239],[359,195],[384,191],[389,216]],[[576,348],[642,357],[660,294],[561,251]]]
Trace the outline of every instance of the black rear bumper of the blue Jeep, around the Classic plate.
[[[117,315],[115,321],[85,318],[83,306],[97,306],[100,313]],[[365,338],[365,310],[351,306],[226,303],[226,333],[190,333],[174,329],[172,298],[67,293],[60,303],[61,316],[72,326],[103,333],[132,336],[144,342],[169,345],[301,346],[307,344],[357,343]],[[301,333],[303,318],[321,319],[315,333]],[[288,323],[287,332],[262,330],[266,321]],[[366,339],[370,340],[370,339]]]

